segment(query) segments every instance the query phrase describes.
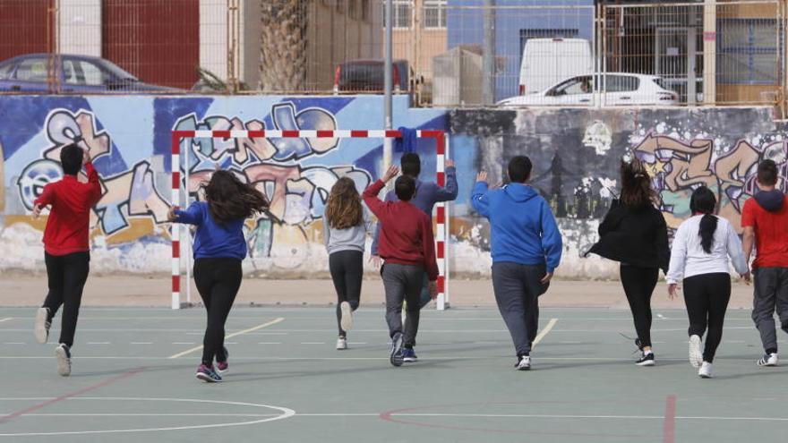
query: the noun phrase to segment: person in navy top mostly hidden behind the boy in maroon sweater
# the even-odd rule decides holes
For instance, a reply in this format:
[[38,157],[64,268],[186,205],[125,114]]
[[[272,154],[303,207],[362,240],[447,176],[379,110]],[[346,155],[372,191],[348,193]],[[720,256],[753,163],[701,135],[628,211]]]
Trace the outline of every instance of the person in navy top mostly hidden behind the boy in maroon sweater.
[[[418,179],[422,172],[422,161],[418,154],[415,152],[408,152],[399,160],[399,165],[402,167],[402,175],[414,179],[415,181],[415,196],[410,200],[413,205],[424,211],[430,217],[430,223],[433,220],[433,208],[435,203],[441,201],[454,201],[457,200],[458,186],[457,186],[457,168],[454,162],[446,160],[446,186],[440,186],[435,182],[422,182]],[[386,193],[386,201],[397,201],[397,194],[393,191]],[[381,236],[381,223],[375,229],[375,236],[372,246],[372,257],[370,260],[376,268],[381,266],[381,257],[378,254],[378,241]],[[420,296],[419,305],[424,308],[432,300],[429,291],[429,279],[424,274],[424,285],[422,294]]]

